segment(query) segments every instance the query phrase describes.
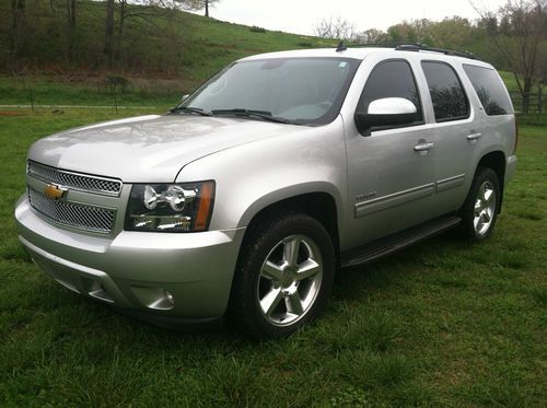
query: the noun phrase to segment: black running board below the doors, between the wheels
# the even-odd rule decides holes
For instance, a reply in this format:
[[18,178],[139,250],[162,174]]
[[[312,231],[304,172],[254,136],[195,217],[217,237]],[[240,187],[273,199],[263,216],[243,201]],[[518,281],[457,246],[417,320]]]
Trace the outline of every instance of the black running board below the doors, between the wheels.
[[351,267],[371,263],[380,257],[400,250],[419,241],[450,230],[462,222],[459,217],[444,217],[422,225],[401,231],[386,238],[372,242],[363,247],[350,250],[341,256],[341,266]]

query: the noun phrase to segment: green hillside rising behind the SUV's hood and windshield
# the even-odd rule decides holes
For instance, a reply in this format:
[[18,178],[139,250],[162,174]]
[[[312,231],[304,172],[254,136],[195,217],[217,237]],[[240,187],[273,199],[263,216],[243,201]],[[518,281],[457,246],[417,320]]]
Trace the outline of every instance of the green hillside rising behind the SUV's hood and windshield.
[[[117,60],[108,67],[103,53],[106,4],[77,4],[72,45],[67,39],[63,3],[55,12],[48,2],[27,5],[25,31],[14,56],[10,3],[0,2],[0,105],[172,106],[235,59],[336,44],[182,11],[130,5],[126,13],[133,16],[126,19],[123,36],[115,33]],[[118,8],[116,27],[119,13]]]

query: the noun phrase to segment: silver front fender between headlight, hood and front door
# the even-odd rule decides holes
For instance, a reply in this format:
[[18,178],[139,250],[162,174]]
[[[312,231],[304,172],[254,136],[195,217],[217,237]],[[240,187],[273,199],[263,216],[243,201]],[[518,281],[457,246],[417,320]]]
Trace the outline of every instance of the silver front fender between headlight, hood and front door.
[[341,118],[322,127],[302,127],[189,163],[178,183],[214,179],[211,230],[248,225],[261,209],[309,193],[330,195],[345,230],[347,208],[346,144]]

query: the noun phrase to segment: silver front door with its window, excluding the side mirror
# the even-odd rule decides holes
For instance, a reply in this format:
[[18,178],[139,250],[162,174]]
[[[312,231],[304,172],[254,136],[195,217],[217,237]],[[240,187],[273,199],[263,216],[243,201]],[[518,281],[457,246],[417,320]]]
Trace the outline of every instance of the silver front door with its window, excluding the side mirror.
[[435,190],[434,133],[424,125],[421,97],[405,59],[381,61],[371,71],[359,109],[385,97],[417,108],[406,126],[371,128],[361,135],[347,124],[349,246],[363,244],[428,220]]

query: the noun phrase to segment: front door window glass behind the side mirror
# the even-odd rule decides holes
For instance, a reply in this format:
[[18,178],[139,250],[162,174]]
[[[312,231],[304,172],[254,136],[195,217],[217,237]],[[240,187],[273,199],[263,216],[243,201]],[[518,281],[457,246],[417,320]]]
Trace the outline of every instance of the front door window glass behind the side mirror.
[[384,97],[404,97],[412,102],[417,109],[416,121],[412,125],[423,123],[418,86],[407,61],[387,60],[374,67],[364,85],[359,106],[363,112],[368,112],[372,101]]

